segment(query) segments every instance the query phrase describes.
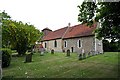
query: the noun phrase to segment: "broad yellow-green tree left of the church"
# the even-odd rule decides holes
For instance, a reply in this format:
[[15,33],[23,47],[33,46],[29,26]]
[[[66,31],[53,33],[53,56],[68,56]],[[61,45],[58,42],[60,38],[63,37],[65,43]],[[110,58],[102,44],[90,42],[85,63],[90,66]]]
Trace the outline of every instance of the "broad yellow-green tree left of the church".
[[[5,12],[2,14],[7,15]],[[18,54],[22,55],[40,39],[42,33],[33,25],[5,18],[6,16],[2,17],[3,47],[16,49]]]

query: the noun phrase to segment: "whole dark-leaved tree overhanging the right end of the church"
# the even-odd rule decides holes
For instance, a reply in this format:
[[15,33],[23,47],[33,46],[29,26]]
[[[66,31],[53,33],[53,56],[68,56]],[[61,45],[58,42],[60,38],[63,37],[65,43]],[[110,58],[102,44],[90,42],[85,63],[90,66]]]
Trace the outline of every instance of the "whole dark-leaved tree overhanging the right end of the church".
[[95,30],[98,39],[120,38],[120,2],[83,2],[78,6],[78,21],[91,26],[94,21],[101,27]]

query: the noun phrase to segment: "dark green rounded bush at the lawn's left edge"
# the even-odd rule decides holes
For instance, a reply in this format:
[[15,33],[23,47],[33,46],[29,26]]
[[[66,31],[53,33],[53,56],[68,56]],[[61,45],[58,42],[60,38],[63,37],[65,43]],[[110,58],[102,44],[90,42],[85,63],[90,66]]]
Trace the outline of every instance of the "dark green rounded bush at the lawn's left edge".
[[11,50],[2,49],[2,68],[8,67],[11,62]]

